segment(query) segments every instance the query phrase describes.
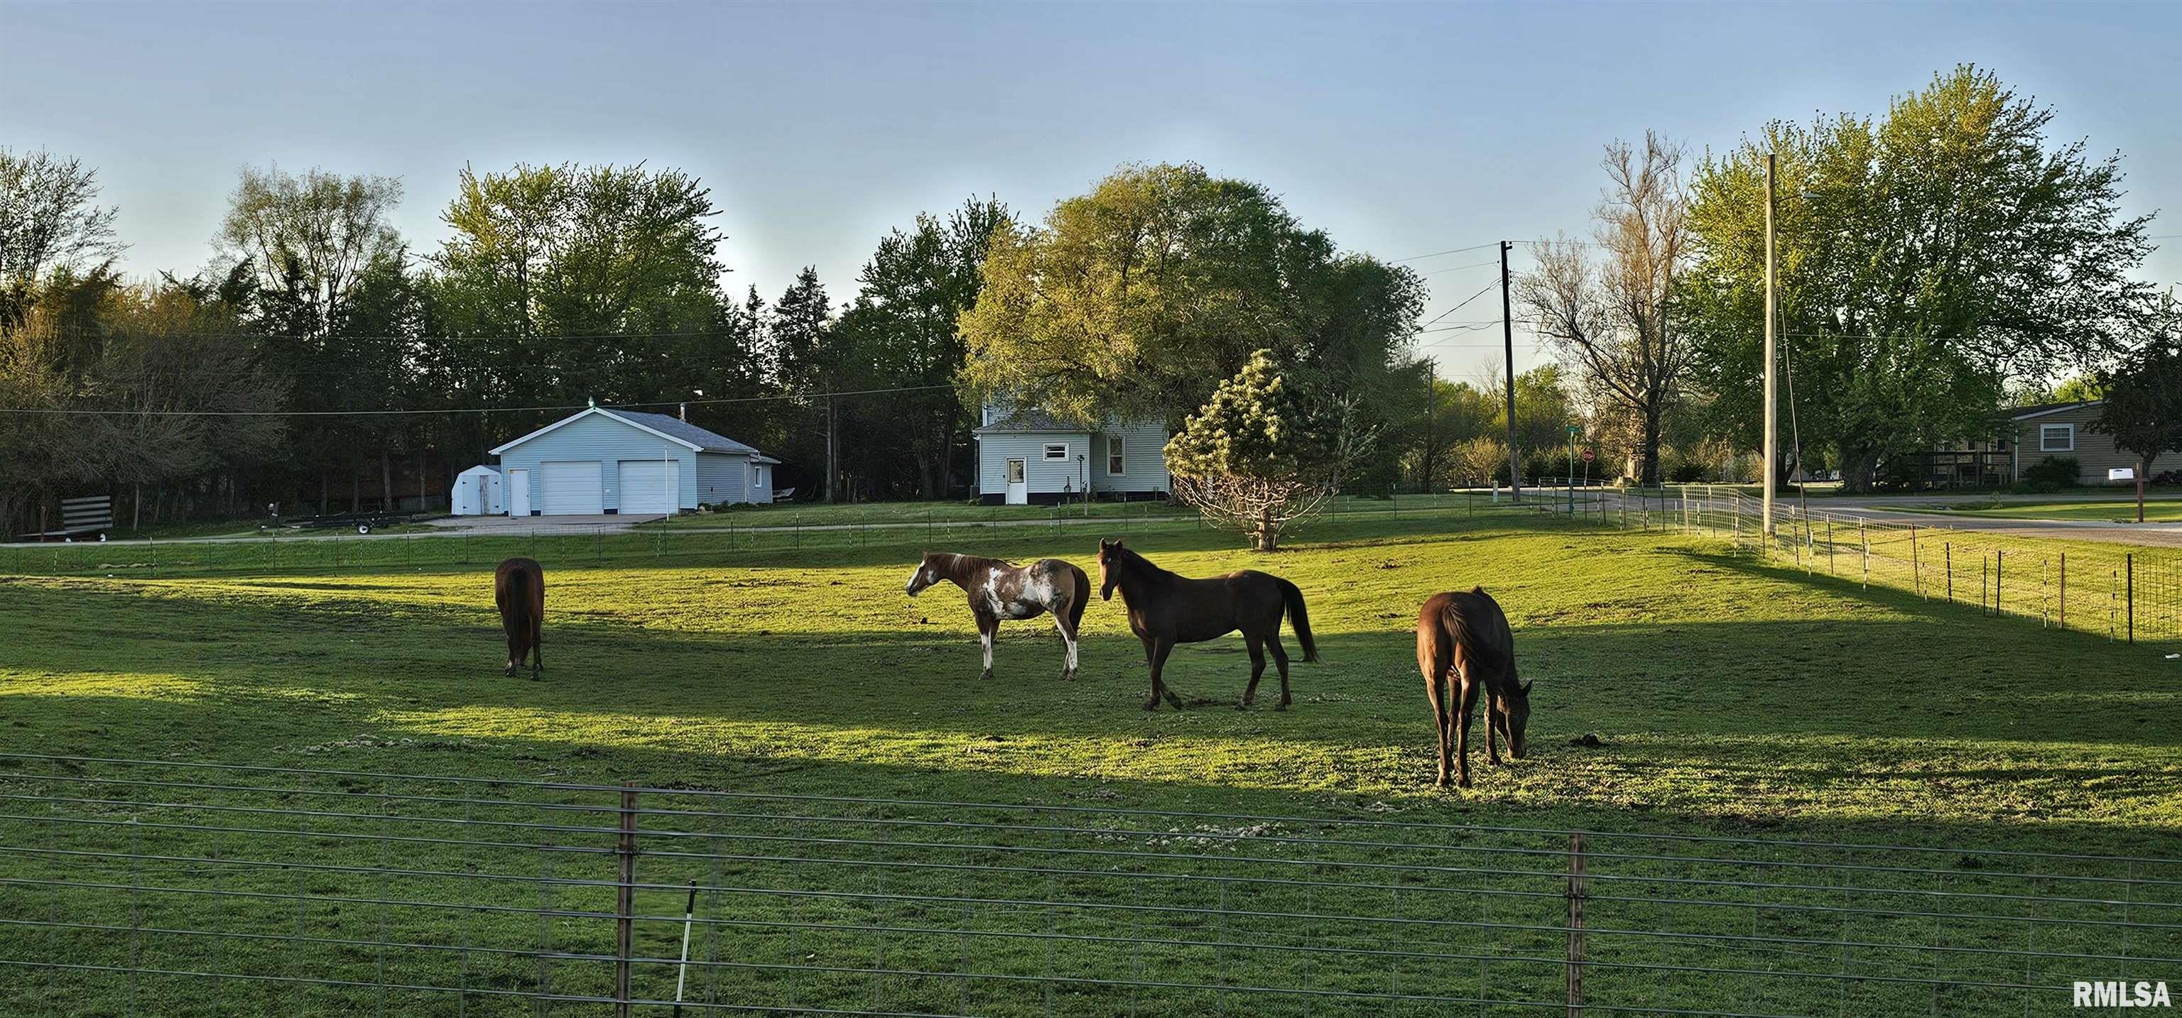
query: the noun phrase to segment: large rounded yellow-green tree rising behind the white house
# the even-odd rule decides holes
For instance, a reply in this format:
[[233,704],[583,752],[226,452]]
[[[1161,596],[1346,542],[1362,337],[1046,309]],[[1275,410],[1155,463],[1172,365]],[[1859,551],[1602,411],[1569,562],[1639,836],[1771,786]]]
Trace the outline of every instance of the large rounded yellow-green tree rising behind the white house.
[[962,377],[1093,425],[1200,405],[1268,349],[1375,412],[1418,307],[1412,270],[1335,255],[1259,183],[1124,166],[1043,227],[995,231]]

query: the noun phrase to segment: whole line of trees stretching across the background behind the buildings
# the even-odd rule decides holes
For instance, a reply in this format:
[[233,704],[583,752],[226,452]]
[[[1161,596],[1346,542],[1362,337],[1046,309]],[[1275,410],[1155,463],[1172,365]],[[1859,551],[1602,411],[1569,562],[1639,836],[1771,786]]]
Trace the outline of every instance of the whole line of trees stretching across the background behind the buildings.
[[[1591,235],[1525,242],[1510,294],[1554,355],[1514,379],[1523,480],[1767,469],[1767,155],[1794,416],[1770,469],[1914,480],[1916,453],[1997,438],[2012,401],[2154,362],[2178,329],[2134,277],[2149,216],[2119,211],[2119,155],[2051,120],[1964,65],[1883,116],[1776,120],[1695,159],[1608,144]],[[727,283],[720,209],[683,170],[463,168],[436,249],[391,227],[401,201],[386,177],[251,168],[205,268],[122,279],[96,168],[0,153],[9,530],[98,490],[153,519],[334,512],[397,475],[436,495],[563,416],[539,408],[591,401],[687,403],[814,497],[964,497],[986,401],[1185,429],[1259,355],[1342,405],[1348,490],[1510,480],[1503,375],[1434,371],[1423,277],[1194,163],[1122,166],[1036,218],[993,196],[916,214],[853,281],[805,268],[777,296]]]

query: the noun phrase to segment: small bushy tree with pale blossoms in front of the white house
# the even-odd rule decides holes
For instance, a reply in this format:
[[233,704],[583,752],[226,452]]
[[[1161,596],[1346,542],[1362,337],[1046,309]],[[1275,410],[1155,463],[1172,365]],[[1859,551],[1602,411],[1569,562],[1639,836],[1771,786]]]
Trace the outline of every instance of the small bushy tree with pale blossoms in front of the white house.
[[1370,438],[1353,427],[1353,405],[1309,392],[1257,351],[1167,440],[1167,471],[1209,523],[1274,552],[1285,525],[1340,493]]

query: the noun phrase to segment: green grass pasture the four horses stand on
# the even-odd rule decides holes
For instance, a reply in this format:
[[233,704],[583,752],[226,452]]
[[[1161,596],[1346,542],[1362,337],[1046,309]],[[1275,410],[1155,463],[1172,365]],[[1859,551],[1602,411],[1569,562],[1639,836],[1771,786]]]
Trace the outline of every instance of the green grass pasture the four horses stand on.
[[[1143,523],[1132,545],[1183,573],[1272,569],[1303,586],[1324,663],[1296,665],[1296,706],[1235,711],[1248,658],[1224,639],[1176,650],[1170,682],[1198,700],[1191,711],[1143,713],[1146,669],[1119,604],[1084,617],[1082,678],[1058,682],[1060,647],[1050,623],[1006,623],[993,682],[978,682],[975,628],[954,589],[919,599],[901,582],[919,549],[991,549],[1010,558],[1065,556],[1091,567],[1093,536],[1115,521],[1052,528],[975,528],[866,534],[624,534],[580,538],[428,538],[188,545],[157,573],[135,556],[0,558],[20,573],[0,580],[0,791],[107,800],[59,811],[0,800],[0,841],[39,852],[0,855],[0,920],[37,916],[76,926],[0,924],[0,959],[131,957],[170,970],[345,972],[336,979],[480,987],[478,996],[362,992],[314,983],[238,983],[214,992],[179,977],[122,979],[103,970],[0,972],[4,1014],[308,1014],[391,1007],[401,1014],[517,1014],[528,1001],[493,987],[600,992],[602,968],[585,957],[611,948],[611,926],[519,911],[421,913],[401,907],[336,907],[301,896],[386,898],[382,878],[353,865],[415,870],[401,896],[471,907],[611,909],[611,878],[596,852],[521,848],[552,811],[587,817],[565,833],[572,848],[611,835],[607,796],[580,789],[395,785],[360,776],[253,776],[185,767],[83,772],[33,754],[218,761],[327,772],[441,774],[469,778],[600,783],[639,780],[690,789],[655,809],[663,826],[735,861],[646,859],[639,911],[681,913],[672,885],[740,883],[783,894],[753,896],[707,924],[694,957],[753,968],[709,968],[720,1001],[777,1011],[936,1014],[1180,1014],[1248,1007],[1266,1014],[1444,1014],[1447,1001],[1554,1001],[1560,937],[1540,933],[1562,909],[1554,835],[1532,831],[1628,831],[1826,844],[1931,846],[1927,861],[1811,850],[1809,859],[1866,865],[1857,885],[1896,894],[1903,916],[1850,924],[1829,881],[1800,883],[1776,868],[1791,859],[1667,865],[1602,859],[1621,900],[1599,902],[1599,924],[1682,935],[1805,937],[1842,942],[1805,953],[1739,942],[1623,942],[1597,937],[1599,957],[1628,968],[1591,974],[1602,1005],[1691,1007],[1748,1014],[2058,1014],[2064,996],[2012,990],[1946,990],[1933,974],[2049,985],[2110,977],[2066,961],[2110,953],[2110,929],[2069,918],[2125,916],[2132,957],[2182,957],[2182,868],[2132,863],[2127,900],[2108,885],[2069,885],[2069,874],[2010,878],[2034,863],[2021,852],[2175,857],[2182,833],[2182,671],[2171,647],[2123,647],[2086,632],[2040,630],[2023,619],[1861,593],[1846,580],[1767,567],[1726,545],[1671,534],[1610,532],[1514,512],[1355,512],[1303,534],[1292,552],[1252,556],[1194,525]],[[332,552],[327,547],[334,547]],[[74,552],[100,556],[100,549]],[[137,549],[127,549],[137,552]],[[44,554],[44,552],[33,552]],[[500,676],[489,562],[535,554],[548,569],[543,682]],[[288,558],[281,558],[288,556]],[[314,558],[319,556],[319,558]],[[449,565],[460,560],[460,565]],[[50,565],[50,567],[48,567]],[[1516,626],[1523,674],[1536,680],[1532,759],[1477,765],[1468,793],[1431,789],[1431,724],[1414,665],[1414,610],[1425,595],[1484,584]],[[1294,639],[1290,637],[1294,652]],[[1270,678],[1268,678],[1270,682]],[[1263,693],[1263,689],[1261,689]],[[1477,728],[1482,737],[1482,724]],[[1597,737],[1597,739],[1584,739]],[[199,809],[135,807],[148,787],[100,778],[155,778],[201,789]],[[290,787],[284,807],[321,817],[264,817],[209,807],[264,804],[247,785]],[[698,791],[812,796],[705,798]],[[391,800],[373,796],[421,796]],[[445,802],[430,800],[445,796]],[[465,798],[497,798],[480,807]],[[1089,807],[1074,815],[1036,809],[879,807],[866,800],[1019,802]],[[463,800],[463,802],[456,802]],[[853,802],[851,802],[853,800]],[[585,813],[583,809],[607,809]],[[59,811],[59,813],[57,813]],[[727,813],[735,813],[729,817]],[[764,813],[764,815],[759,815]],[[1305,817],[1270,826],[1191,815]],[[74,820],[57,820],[68,815]],[[129,826],[177,817],[257,828],[207,833]],[[349,839],[421,835],[445,820],[506,822],[465,833],[467,846]],[[792,820],[801,817],[801,820]],[[818,820],[825,817],[825,820]],[[1324,817],[1314,822],[1309,817]],[[81,820],[81,822],[79,822]],[[1449,828],[1342,826],[1468,824]],[[727,835],[705,824],[740,824]],[[969,828],[962,824],[997,824]],[[1130,833],[1115,833],[1124,828]],[[127,837],[120,833],[127,831]],[[471,831],[471,828],[465,828]],[[698,837],[711,831],[727,837]],[[443,833],[443,831],[441,831]],[[836,837],[840,844],[738,841],[735,835]],[[962,841],[940,852],[960,868],[916,868],[901,848],[847,841]],[[1344,846],[1370,839],[1375,846]],[[668,841],[676,844],[676,841]],[[687,844],[687,841],[681,841]],[[1612,844],[1599,835],[1599,844]],[[72,846],[122,846],[142,857],[72,865]],[[729,846],[729,848],[722,848]],[[742,848],[733,848],[742,846]],[[1628,850],[1628,844],[1621,844]],[[131,850],[133,848],[133,850]],[[1525,865],[1492,865],[1464,850],[1543,852]],[[1091,850],[1093,855],[1084,855]],[[1095,852],[1150,852],[1117,859]],[[1689,846],[1674,852],[1728,857],[1765,848]],[[807,852],[803,861],[779,857]],[[1632,852],[1643,855],[1643,852]],[[1087,861],[1089,859],[1089,861]],[[1477,872],[1344,870],[1353,863]],[[1925,859],[1925,857],[1916,857]],[[1067,861],[1063,868],[1056,861]],[[1911,859],[1914,861],[1914,859]],[[242,865],[251,863],[251,865]],[[286,863],[286,865],[281,865]],[[864,863],[864,865],[851,865]],[[884,863],[884,865],[879,865]],[[316,865],[316,870],[312,870]],[[2045,863],[2040,863],[2045,865]],[[2086,863],[2090,865],[2090,863]],[[214,892],[290,898],[98,896],[20,881],[116,883],[148,870]],[[1065,872],[1060,872],[1065,870]],[[1490,872],[1488,872],[1490,870]],[[1532,872],[1525,876],[1525,872]],[[1719,887],[1645,883],[1667,872],[1711,876]],[[546,874],[565,885],[506,889],[463,874]],[[1752,889],[1737,881],[1770,872]],[[1165,874],[1146,883],[1139,876]],[[1242,876],[1311,878],[1242,883]],[[1615,876],[1619,874],[1619,876]],[[1368,878],[1366,878],[1368,876]],[[1414,876],[1414,883],[1412,883]],[[1314,881],[1316,878],[1316,881]],[[611,881],[609,881],[611,883]],[[2055,885],[2060,885],[2055,889]],[[1501,889],[1501,896],[1462,889]],[[1615,887],[1615,885],[1606,885]],[[790,894],[794,892],[794,894]],[[873,894],[836,898],[829,894]],[[1946,911],[1916,907],[1922,894]],[[2064,902],[2029,896],[2069,892]],[[1604,894],[1604,892],[1602,892]],[[1719,896],[1726,911],[1676,898]],[[1863,892],[1859,892],[1863,894]],[[892,898],[886,898],[892,896]],[[1010,900],[1111,900],[1220,911],[1054,911]],[[1647,898],[1661,898],[1650,902]],[[209,900],[209,905],[205,905]],[[1748,907],[1774,902],[1783,909]],[[1861,900],[1861,898],[1859,898]],[[999,902],[999,905],[964,905]],[[1798,911],[1796,907],[1802,907]],[[714,905],[718,907],[718,902]],[[188,909],[207,909],[190,916]],[[1228,926],[1228,911],[1250,918]],[[2029,911],[2027,911],[2029,909]],[[1990,916],[1962,916],[1977,911]],[[1296,916],[1357,913],[1420,924],[1359,931]],[[1722,913],[1733,931],[1715,929]],[[137,926],[203,926],[305,935],[310,944],[116,935]],[[2034,916],[2047,924],[2018,922]],[[161,922],[161,918],[166,922]],[[1460,918],[1466,926],[1434,926]],[[2001,922],[2001,920],[2014,922]],[[768,926],[770,924],[770,926]],[[888,926],[873,937],[840,926]],[[956,935],[919,935],[947,929]],[[1410,929],[1410,933],[1403,933]],[[1966,968],[1946,953],[1850,948],[1863,942],[2007,946],[2012,970]],[[609,940],[600,940],[607,935]],[[1054,940],[1078,935],[1084,940]],[[679,924],[648,922],[639,953],[672,957]],[[1283,940],[1285,937],[1285,940]],[[1909,940],[1916,937],[1916,940]],[[419,961],[371,944],[467,944]],[[541,942],[576,957],[541,972],[517,955]],[[1143,944],[1167,944],[1146,950]],[[1231,950],[1224,944],[1296,944]],[[506,955],[493,955],[493,950]],[[1746,950],[1748,948],[1748,950]],[[705,955],[711,950],[711,955]],[[1506,957],[1492,966],[1388,961],[1375,950]],[[135,955],[131,955],[135,953]],[[2049,957],[2060,955],[2060,957]],[[281,968],[286,966],[286,968]],[[871,968],[988,979],[873,977]],[[1685,972],[1645,966],[1709,966]],[[1772,970],[1846,970],[1879,977],[1835,985]],[[1957,966],[1957,968],[1951,968]],[[1008,974],[1065,974],[1050,983]],[[1885,979],[1907,983],[1887,983]],[[2182,979],[2138,964],[2132,979]],[[692,974],[698,979],[698,974]],[[1106,979],[1159,983],[1117,987]],[[670,972],[639,972],[666,992]],[[1233,998],[1209,985],[1314,985],[1333,996]],[[1348,998],[1342,992],[1386,996]],[[1837,996],[1839,994],[1839,996]],[[1815,1001],[1815,1003],[1813,1003]],[[600,1014],[570,1001],[554,1014]],[[1495,1007],[1499,1011],[1499,1007]]]

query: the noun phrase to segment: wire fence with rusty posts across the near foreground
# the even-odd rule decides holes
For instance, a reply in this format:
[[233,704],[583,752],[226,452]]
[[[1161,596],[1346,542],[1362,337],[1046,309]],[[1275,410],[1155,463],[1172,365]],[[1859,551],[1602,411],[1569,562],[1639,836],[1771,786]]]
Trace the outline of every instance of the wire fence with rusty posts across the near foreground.
[[7,1014],[2058,1014],[2182,865],[0,756]]

